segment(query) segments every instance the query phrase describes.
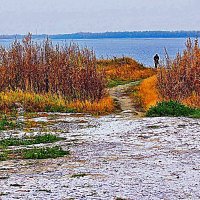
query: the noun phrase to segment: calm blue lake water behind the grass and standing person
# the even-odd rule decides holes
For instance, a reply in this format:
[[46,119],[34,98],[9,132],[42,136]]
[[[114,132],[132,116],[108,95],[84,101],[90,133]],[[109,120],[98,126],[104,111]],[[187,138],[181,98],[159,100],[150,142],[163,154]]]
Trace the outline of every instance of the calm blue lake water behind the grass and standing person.
[[[12,41],[1,39],[0,45],[8,47]],[[70,44],[72,41],[81,47],[93,49],[97,58],[129,56],[146,66],[153,66],[153,56],[156,53],[164,60],[164,47],[171,58],[174,58],[177,52],[182,52],[186,38],[53,40],[53,44]]]

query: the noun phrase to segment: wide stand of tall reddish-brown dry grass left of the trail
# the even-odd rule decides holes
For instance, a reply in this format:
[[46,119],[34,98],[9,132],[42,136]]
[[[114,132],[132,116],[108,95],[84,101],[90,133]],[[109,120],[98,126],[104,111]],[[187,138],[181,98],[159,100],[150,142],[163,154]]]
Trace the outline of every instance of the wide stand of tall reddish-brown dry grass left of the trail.
[[68,101],[98,101],[104,97],[105,73],[96,57],[77,45],[39,44],[31,35],[10,48],[0,47],[0,92],[34,92],[62,96]]

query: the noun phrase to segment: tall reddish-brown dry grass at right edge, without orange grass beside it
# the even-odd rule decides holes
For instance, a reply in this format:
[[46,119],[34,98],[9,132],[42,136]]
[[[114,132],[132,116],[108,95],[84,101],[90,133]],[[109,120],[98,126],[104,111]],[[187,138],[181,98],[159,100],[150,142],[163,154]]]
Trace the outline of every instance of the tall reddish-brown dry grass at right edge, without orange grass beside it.
[[157,88],[165,100],[187,102],[199,106],[200,102],[200,48],[198,39],[188,39],[183,54],[158,71]]

